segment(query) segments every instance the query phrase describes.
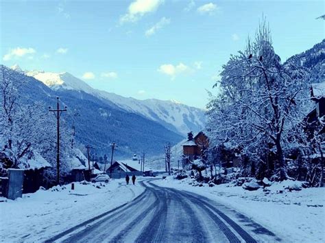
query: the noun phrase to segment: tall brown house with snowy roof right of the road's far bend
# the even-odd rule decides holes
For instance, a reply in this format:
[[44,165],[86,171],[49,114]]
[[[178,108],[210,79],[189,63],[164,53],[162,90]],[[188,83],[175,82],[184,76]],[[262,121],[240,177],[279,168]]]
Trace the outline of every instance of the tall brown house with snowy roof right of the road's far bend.
[[202,157],[202,153],[208,148],[208,137],[202,131],[195,137],[193,137],[193,133],[189,132],[188,139],[182,146],[184,158],[193,161],[197,157]]

